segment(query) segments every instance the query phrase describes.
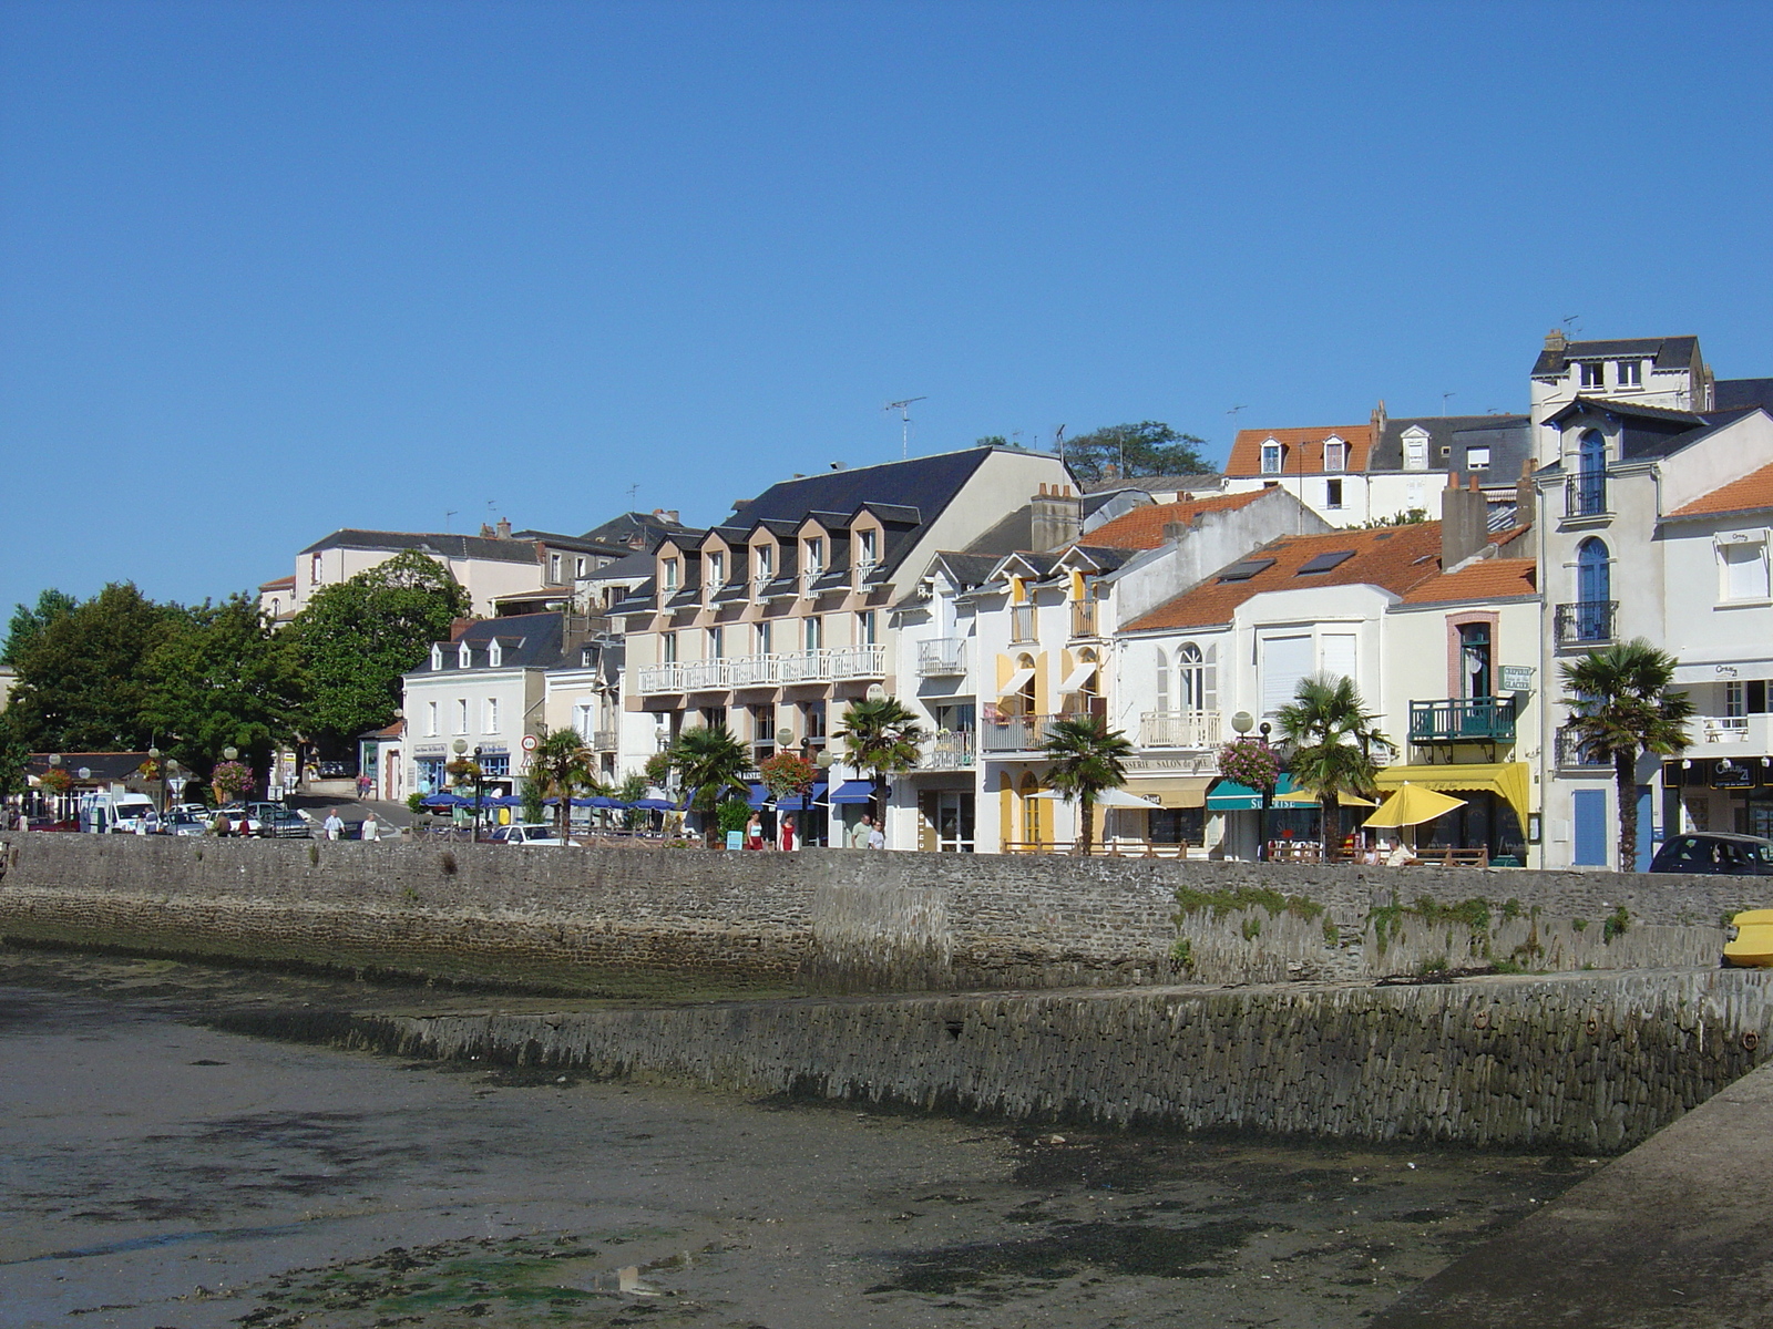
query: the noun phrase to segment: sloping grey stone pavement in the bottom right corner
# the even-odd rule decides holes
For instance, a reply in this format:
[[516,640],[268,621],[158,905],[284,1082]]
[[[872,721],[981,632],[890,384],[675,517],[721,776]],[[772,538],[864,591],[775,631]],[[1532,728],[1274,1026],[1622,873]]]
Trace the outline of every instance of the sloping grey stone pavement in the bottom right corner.
[[1372,1329],[1773,1325],[1773,1067],[1420,1283]]

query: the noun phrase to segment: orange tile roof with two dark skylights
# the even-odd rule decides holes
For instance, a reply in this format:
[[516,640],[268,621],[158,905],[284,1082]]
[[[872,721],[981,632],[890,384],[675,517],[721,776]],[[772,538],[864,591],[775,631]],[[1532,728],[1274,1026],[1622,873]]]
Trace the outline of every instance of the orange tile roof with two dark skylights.
[[[1245,581],[1220,581],[1220,574],[1215,572],[1193,590],[1135,618],[1128,629],[1138,633],[1151,627],[1227,624],[1239,604],[1264,590],[1372,585],[1402,595],[1417,583],[1440,576],[1440,526],[1438,521],[1422,521],[1415,526],[1337,530],[1328,535],[1287,535],[1269,540],[1248,556],[1273,558],[1271,567]],[[1342,549],[1351,549],[1355,556],[1328,572],[1294,576],[1314,556]]]

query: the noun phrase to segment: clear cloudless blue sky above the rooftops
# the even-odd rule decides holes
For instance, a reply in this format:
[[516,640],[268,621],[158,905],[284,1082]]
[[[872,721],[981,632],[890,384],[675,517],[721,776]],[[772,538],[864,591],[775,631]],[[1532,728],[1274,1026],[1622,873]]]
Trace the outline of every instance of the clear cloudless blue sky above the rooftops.
[[[0,4],[0,613],[911,447],[1773,374],[1773,5]],[[489,503],[495,505],[489,509]],[[445,517],[454,510],[454,517]]]

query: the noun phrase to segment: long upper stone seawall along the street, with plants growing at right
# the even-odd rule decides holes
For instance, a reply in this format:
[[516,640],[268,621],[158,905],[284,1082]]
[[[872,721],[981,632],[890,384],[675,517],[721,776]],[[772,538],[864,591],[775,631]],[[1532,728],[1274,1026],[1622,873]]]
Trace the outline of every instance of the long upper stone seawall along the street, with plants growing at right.
[[[560,991],[1714,964],[1741,877],[14,835],[0,937]],[[1184,907],[1177,905],[1177,891]],[[1461,902],[1482,907],[1459,907]]]

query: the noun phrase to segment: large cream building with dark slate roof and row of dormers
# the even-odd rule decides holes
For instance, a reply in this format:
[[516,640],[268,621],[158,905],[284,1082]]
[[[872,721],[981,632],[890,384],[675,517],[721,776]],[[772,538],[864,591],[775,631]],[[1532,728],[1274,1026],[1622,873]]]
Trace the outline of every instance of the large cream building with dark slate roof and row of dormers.
[[[1058,457],[966,448],[793,477],[699,537],[668,535],[649,583],[612,610],[626,620],[624,709],[652,723],[622,767],[686,725],[727,725],[759,762],[784,734],[821,751],[847,702],[911,682],[890,610],[936,551],[966,549],[1048,489],[1074,489]],[[805,815],[823,833],[824,808]]]

